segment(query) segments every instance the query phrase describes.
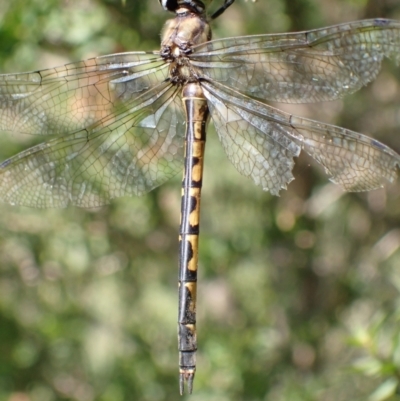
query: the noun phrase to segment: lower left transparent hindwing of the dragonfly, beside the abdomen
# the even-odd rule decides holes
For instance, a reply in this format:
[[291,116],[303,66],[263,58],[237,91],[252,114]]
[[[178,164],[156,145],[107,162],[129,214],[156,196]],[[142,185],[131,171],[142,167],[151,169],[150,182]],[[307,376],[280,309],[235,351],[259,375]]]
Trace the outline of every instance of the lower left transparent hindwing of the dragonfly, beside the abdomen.
[[0,200],[97,207],[160,185],[182,169],[185,126],[177,93],[163,82],[83,130],[6,160],[0,165]]

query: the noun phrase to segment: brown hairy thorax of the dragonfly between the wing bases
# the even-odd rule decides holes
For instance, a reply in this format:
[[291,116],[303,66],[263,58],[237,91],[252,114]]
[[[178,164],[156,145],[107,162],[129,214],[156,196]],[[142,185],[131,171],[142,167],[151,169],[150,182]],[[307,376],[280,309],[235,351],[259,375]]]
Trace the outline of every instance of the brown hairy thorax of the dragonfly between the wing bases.
[[162,31],[161,57],[170,63],[170,79],[175,84],[196,82],[199,76],[190,65],[193,46],[211,39],[211,29],[203,16],[182,9],[168,20]]

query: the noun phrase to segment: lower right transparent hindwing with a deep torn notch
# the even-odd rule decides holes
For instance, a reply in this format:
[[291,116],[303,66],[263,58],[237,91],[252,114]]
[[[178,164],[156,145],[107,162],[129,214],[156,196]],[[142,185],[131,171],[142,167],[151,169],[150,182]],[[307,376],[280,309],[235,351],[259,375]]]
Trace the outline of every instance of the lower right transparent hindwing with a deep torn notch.
[[218,83],[202,85],[229,159],[264,190],[286,187],[301,149],[347,191],[379,188],[398,176],[400,156],[372,138],[284,113]]

